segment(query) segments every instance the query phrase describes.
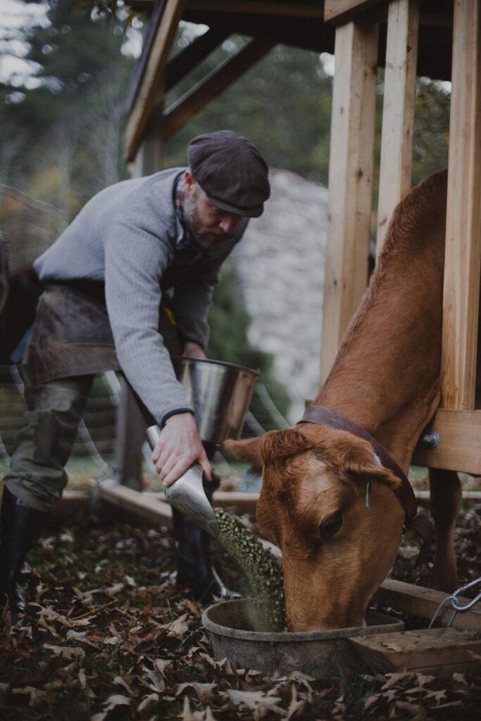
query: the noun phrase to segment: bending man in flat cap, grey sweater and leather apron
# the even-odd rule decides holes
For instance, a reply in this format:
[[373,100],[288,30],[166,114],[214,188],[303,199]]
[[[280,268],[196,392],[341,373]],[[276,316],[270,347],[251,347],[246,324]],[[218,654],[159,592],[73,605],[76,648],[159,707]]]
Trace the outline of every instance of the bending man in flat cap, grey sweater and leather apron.
[[[219,268],[270,187],[256,146],[230,131],[194,138],[187,156],[187,168],[102,190],[34,262],[43,293],[23,353],[28,411],[4,478],[1,607],[7,596],[22,609],[22,565],[66,485],[94,373],[122,371],[147,423],[162,429],[152,459],[164,484],[195,461],[211,479],[170,355],[206,357]],[[174,514],[177,584],[206,598],[215,583],[208,537]]]

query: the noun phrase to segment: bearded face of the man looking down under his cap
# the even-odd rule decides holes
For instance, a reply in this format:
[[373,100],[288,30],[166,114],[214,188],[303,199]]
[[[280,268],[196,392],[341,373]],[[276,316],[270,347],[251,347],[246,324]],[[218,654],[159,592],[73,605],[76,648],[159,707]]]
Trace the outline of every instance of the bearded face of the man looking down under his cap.
[[190,232],[203,248],[221,243],[234,232],[242,217],[212,205],[195,181],[186,182],[184,213]]

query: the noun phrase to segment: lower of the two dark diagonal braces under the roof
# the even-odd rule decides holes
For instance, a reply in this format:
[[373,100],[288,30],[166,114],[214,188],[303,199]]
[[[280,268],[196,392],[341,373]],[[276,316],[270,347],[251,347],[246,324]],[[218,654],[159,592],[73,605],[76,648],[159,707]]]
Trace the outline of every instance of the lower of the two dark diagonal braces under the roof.
[[274,43],[266,40],[252,40],[167,108],[162,123],[164,141],[183,128],[203,107],[255,65],[273,45]]

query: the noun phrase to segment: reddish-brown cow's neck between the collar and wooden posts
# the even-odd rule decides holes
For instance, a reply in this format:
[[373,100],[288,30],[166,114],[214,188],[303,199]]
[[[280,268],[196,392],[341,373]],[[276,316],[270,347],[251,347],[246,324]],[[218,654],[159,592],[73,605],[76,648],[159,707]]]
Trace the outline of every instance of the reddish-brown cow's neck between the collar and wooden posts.
[[444,229],[433,235],[423,238],[428,254],[392,247],[314,399],[374,435],[404,469],[439,402]]

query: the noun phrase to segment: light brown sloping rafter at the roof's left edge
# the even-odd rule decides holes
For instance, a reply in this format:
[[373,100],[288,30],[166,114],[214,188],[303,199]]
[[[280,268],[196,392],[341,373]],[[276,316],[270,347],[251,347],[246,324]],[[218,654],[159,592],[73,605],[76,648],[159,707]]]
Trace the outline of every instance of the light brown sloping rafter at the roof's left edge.
[[164,66],[175,39],[184,5],[185,0],[165,0],[162,19],[125,131],[125,156],[128,161],[133,160],[151,112],[156,107],[158,87],[161,84]]

